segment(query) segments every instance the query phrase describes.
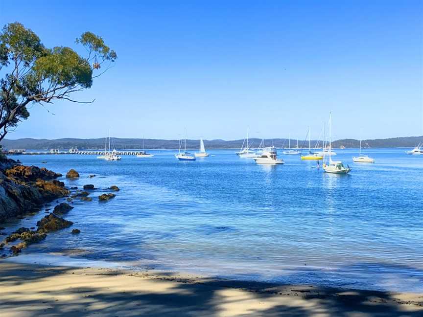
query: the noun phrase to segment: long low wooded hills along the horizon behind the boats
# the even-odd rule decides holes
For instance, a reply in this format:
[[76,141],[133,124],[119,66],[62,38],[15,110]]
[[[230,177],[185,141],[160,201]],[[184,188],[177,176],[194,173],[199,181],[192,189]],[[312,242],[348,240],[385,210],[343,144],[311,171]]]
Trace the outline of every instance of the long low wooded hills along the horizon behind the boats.
[[[33,139],[21,138],[16,140],[3,139],[1,145],[3,149],[27,149],[27,150],[49,150],[49,149],[70,149],[77,147],[84,149],[104,149],[104,138],[79,139],[79,138],[60,138],[60,139]],[[112,146],[117,149],[142,149],[142,139],[139,138],[112,138]],[[206,148],[209,149],[229,149],[240,148],[244,140],[225,141],[221,139],[204,140]],[[261,139],[252,138],[250,142],[253,147],[258,147]],[[363,147],[414,147],[423,141],[423,136],[405,136],[386,139],[363,140]],[[179,140],[162,140],[162,139],[145,139],[146,149],[177,149],[179,148]],[[295,145],[291,140],[291,146]],[[359,140],[341,139],[334,141],[333,147],[345,146],[346,148],[356,148],[359,146]],[[200,140],[187,140],[187,148],[198,148]],[[266,139],[265,145],[275,145],[276,147],[287,147],[288,140],[285,138]],[[312,141],[312,146],[316,144],[316,140]],[[308,142],[299,141],[300,147],[308,147]]]

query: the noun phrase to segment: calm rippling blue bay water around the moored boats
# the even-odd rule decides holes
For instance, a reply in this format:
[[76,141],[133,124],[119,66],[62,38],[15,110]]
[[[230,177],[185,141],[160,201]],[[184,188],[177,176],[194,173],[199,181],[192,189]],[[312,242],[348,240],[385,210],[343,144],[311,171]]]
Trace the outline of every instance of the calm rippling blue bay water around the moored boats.
[[[337,150],[349,176],[325,174],[315,162],[282,156],[260,166],[234,150],[177,161],[154,158],[20,156],[93,183],[93,202],[76,202],[63,230],[28,248],[18,261],[126,265],[232,278],[423,292],[423,156],[372,149],[375,164],[353,163],[356,150]],[[282,152],[281,152],[282,153]],[[41,162],[46,160],[47,164]],[[88,179],[89,174],[96,177]],[[107,203],[101,188],[118,185]],[[34,225],[44,213],[11,224]],[[9,230],[9,231],[10,231]],[[49,253],[40,259],[36,254]],[[65,254],[56,256],[54,254]],[[53,256],[53,255],[54,256]],[[59,262],[58,262],[59,261]],[[88,261],[88,262],[87,262]],[[102,264],[104,265],[104,263]]]

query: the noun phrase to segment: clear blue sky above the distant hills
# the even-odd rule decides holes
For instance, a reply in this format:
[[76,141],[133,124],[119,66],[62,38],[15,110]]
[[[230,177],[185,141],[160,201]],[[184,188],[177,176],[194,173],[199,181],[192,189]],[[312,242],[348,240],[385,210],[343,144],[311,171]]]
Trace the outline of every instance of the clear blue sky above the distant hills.
[[329,110],[333,138],[423,135],[422,3],[0,0],[46,46],[92,31],[118,53],[74,95],[94,104],[34,105],[7,137],[304,139]]

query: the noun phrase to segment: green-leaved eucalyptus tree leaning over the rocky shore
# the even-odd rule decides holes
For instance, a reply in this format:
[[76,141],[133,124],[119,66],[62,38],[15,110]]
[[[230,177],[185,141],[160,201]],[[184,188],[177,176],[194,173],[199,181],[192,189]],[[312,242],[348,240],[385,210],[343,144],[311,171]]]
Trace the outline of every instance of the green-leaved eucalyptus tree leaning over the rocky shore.
[[[86,56],[66,46],[45,47],[21,23],[3,27],[0,31],[0,71],[4,71],[0,78],[0,141],[29,117],[27,106],[31,103],[52,103],[55,99],[81,102],[71,99],[71,94],[89,89],[93,79],[117,59],[115,51],[94,33],[83,33],[75,43],[85,48]],[[105,62],[107,67],[100,71]]]

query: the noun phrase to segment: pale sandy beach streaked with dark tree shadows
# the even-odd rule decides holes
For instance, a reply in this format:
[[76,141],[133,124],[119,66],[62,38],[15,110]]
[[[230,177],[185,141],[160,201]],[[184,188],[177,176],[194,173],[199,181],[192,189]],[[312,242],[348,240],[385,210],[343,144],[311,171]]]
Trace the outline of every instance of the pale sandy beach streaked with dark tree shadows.
[[423,294],[0,262],[2,317],[423,316]]

